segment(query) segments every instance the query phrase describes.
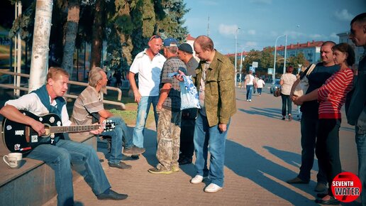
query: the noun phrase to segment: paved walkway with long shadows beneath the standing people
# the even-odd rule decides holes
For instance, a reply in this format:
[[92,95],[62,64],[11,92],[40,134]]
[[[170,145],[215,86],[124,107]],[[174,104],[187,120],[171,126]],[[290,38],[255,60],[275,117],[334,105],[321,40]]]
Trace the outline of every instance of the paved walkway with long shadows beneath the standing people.
[[[155,158],[155,124],[145,132],[147,151],[138,160],[124,157],[131,170],[111,169],[101,163],[112,189],[129,195],[121,201],[97,200],[82,178],[74,183],[74,200],[79,205],[317,205],[314,203],[317,162],[306,185],[285,183],[299,173],[301,165],[300,124],[282,121],[281,98],[267,89],[245,101],[245,91],[236,90],[237,113],[231,120],[226,141],[225,183],[218,193],[204,193],[205,185],[192,185],[194,165],[181,166],[170,175],[148,173],[157,164]],[[296,106],[292,114],[296,117]],[[132,133],[132,128],[130,128]],[[104,156],[105,148],[99,147]],[[345,171],[357,173],[357,151],[354,129],[346,124],[340,128],[340,157]],[[57,205],[53,198],[45,205]],[[360,205],[359,202],[347,205]]]

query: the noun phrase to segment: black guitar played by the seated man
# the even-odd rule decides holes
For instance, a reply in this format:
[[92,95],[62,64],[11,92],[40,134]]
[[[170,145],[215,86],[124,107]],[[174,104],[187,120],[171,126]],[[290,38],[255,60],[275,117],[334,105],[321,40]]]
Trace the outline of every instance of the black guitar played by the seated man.
[[104,131],[111,131],[115,127],[110,120],[106,120],[103,124],[62,126],[60,116],[57,114],[37,116],[28,111],[20,110],[20,112],[44,124],[45,134],[38,136],[31,126],[4,118],[3,140],[6,148],[11,152],[28,153],[40,144],[55,144],[55,137],[63,139],[63,133],[92,131],[99,127],[103,127]]

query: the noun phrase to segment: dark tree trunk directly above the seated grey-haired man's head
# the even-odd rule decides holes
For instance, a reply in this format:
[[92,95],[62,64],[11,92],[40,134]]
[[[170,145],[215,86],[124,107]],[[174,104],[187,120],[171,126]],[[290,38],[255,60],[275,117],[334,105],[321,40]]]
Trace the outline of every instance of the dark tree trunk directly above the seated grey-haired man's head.
[[93,33],[91,34],[91,68],[101,66],[105,5],[104,1],[96,1]]

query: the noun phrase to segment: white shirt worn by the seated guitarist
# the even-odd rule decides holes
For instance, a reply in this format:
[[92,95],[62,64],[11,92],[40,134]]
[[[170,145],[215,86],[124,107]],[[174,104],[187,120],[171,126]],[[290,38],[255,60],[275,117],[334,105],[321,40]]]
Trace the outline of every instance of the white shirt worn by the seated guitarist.
[[[51,97],[50,97],[51,101]],[[57,107],[56,101],[50,102],[53,107]],[[35,93],[25,94],[18,99],[11,99],[8,102],[5,102],[5,105],[9,104],[16,109],[26,110],[28,112],[32,112],[37,116],[41,116],[43,114],[49,114],[48,109],[40,102],[40,98]],[[61,121],[62,126],[70,126],[71,121],[69,120],[69,114],[67,114],[66,104],[62,107],[61,110]]]

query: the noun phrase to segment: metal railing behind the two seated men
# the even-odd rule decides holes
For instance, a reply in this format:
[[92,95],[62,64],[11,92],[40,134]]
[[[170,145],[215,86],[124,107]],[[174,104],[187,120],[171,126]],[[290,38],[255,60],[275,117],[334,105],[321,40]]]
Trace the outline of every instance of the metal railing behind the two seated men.
[[[4,71],[4,70],[0,70],[0,74],[6,74],[6,75],[16,75],[16,76],[20,76],[20,77],[27,77],[29,78],[30,75],[27,74],[21,74],[21,73],[16,73],[16,72],[8,72],[8,71]],[[79,86],[88,86],[88,83],[85,82],[75,82],[75,81],[69,81],[70,85],[79,85]],[[22,90],[22,91],[27,91],[28,92],[28,87],[16,87],[13,85],[5,85],[5,84],[0,84],[0,87],[4,87],[4,88],[9,88],[9,89],[14,89],[14,90]],[[118,97],[117,100],[121,101],[122,98],[122,91],[119,88],[116,87],[106,87],[107,90],[113,90],[118,92]],[[77,95],[73,95],[73,94],[64,94],[64,97],[69,97],[69,98],[73,98],[73,99],[77,99]],[[114,102],[114,101],[110,101],[110,100],[103,100],[104,103],[106,104],[113,104],[113,105],[117,105],[120,106],[121,109],[126,109],[126,105],[123,104],[122,102]]]

